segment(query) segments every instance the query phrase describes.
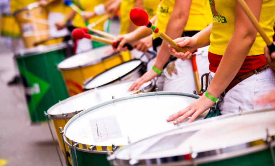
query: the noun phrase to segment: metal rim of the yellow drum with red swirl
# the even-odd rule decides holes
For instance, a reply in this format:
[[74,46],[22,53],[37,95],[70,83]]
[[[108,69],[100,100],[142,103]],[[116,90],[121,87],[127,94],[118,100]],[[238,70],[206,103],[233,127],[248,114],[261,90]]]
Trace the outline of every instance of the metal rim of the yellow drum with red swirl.
[[[97,48],[96,48],[96,49],[97,49]],[[100,49],[100,47],[99,47],[99,49]],[[93,49],[93,50],[94,50],[94,49]],[[89,51],[91,51],[91,50],[89,50]],[[89,51],[87,51],[87,52],[89,52]],[[85,52],[82,52],[82,53],[85,53]],[[82,54],[82,53],[79,53],[79,54]],[[79,54],[76,54],[76,55],[73,55],[73,56],[77,56],[77,55],[79,55]],[[112,58],[113,56],[116,56],[116,55],[120,55],[120,54],[119,54],[119,52],[115,52],[115,51],[114,51],[114,52],[112,52],[111,54],[109,54],[108,56],[105,56],[105,57],[103,57],[103,58],[101,58],[101,59],[99,59],[99,60],[87,62],[87,63],[85,63],[85,64],[83,64],[83,65],[79,65],[79,66],[75,66],[75,67],[66,67],[66,68],[60,68],[60,67],[58,67],[59,64],[62,63],[63,61],[65,61],[65,60],[67,60],[67,59],[73,57],[73,56],[70,56],[70,57],[67,57],[67,58],[65,58],[64,60],[62,60],[60,63],[58,63],[58,64],[57,64],[57,69],[60,70],[60,71],[72,70],[72,69],[79,69],[79,68],[82,68],[82,67],[86,67],[86,66],[90,66],[90,65],[97,64],[97,63],[99,63],[99,62],[103,62],[104,60],[108,60],[108,59],[110,59],[110,58]]]

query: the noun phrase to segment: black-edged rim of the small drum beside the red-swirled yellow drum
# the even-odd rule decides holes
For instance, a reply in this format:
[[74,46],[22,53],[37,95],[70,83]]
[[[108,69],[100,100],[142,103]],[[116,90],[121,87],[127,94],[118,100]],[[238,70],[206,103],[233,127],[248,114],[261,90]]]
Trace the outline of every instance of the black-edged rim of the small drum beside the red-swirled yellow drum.
[[104,74],[104,73],[108,72],[109,70],[112,70],[112,69],[114,69],[114,68],[116,68],[116,67],[118,67],[118,66],[120,66],[120,65],[123,65],[123,64],[125,64],[125,63],[129,63],[129,62],[132,62],[132,61],[136,61],[136,60],[139,60],[139,59],[133,59],[133,60],[129,60],[129,61],[127,61],[127,62],[123,62],[123,63],[121,63],[121,64],[119,64],[119,65],[116,65],[116,66],[114,66],[114,67],[112,67],[112,68],[110,68],[110,69],[108,69],[108,70],[103,71],[103,72],[100,73],[100,74],[97,74],[97,75],[96,75],[95,77],[93,77],[93,78],[87,79],[87,80],[84,81],[84,83],[83,83],[83,90],[84,90],[84,91],[87,91],[87,90],[90,90],[90,89],[94,89],[94,88],[98,88],[98,87],[102,87],[102,86],[105,86],[105,85],[108,85],[108,84],[115,83],[116,81],[122,81],[122,80],[124,80],[125,78],[127,78],[127,77],[126,77],[127,75],[136,73],[137,71],[139,71],[139,70],[142,68],[143,62],[142,62],[141,60],[139,60],[141,63],[140,63],[136,68],[134,68],[133,70],[130,70],[128,73],[124,74],[123,76],[121,76],[121,77],[119,77],[119,78],[116,78],[115,80],[112,80],[112,81],[110,81],[110,82],[107,82],[107,83],[105,83],[105,84],[103,84],[103,85],[94,87],[94,88],[86,88],[86,85],[87,85],[87,84],[89,84],[91,81],[93,81],[94,79],[96,79],[97,77],[99,77],[101,74]]

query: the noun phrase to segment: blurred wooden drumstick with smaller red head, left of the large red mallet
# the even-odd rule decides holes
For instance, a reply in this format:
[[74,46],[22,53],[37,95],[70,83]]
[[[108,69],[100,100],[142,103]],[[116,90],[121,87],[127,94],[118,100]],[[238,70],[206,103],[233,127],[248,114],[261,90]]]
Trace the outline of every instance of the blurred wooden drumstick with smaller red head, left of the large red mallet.
[[[113,41],[105,39],[105,38],[101,38],[101,37],[98,37],[98,36],[95,36],[95,35],[92,35],[92,34],[87,34],[87,33],[85,33],[85,31],[83,31],[80,28],[75,28],[72,31],[71,34],[75,39],[88,38],[88,39],[91,39],[91,40],[96,41],[96,42],[101,42],[101,43],[104,43],[104,44],[112,45],[115,48],[117,48],[117,46],[119,45],[119,42],[113,42]],[[127,46],[127,48],[129,50],[133,49],[133,47],[129,44],[125,44],[124,47],[125,46]]]

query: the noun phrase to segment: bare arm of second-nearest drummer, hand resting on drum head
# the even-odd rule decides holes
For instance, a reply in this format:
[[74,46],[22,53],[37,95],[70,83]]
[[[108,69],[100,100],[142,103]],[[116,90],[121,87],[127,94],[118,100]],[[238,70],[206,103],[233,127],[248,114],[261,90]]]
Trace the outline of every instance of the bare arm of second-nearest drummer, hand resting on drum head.
[[[175,39],[181,37],[189,17],[191,2],[192,0],[175,0],[174,10],[169,18],[165,31],[165,33],[170,38]],[[162,70],[169,57],[170,53],[168,44],[166,42],[162,42],[160,50],[157,54],[156,62],[154,64],[156,69]],[[138,89],[142,84],[153,79],[157,75],[158,74],[155,71],[150,69],[143,76],[141,76],[141,78],[135,81],[134,84],[128,89],[128,91]]]

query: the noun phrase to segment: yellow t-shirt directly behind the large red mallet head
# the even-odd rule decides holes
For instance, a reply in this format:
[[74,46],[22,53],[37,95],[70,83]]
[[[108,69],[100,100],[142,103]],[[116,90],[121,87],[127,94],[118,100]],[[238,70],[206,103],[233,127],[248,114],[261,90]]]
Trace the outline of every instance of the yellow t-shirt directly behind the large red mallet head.
[[[130,25],[130,11],[135,7],[135,0],[122,0],[120,3],[120,32],[127,34]],[[149,20],[156,15],[157,7],[160,0],[143,0],[143,7],[149,15]]]

